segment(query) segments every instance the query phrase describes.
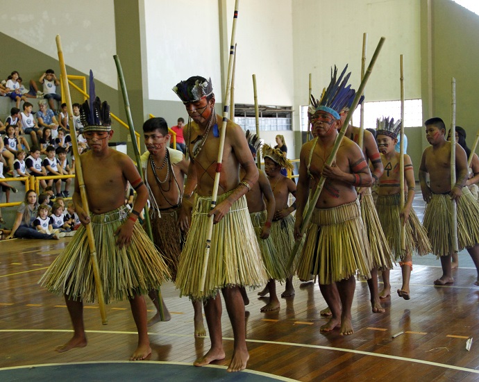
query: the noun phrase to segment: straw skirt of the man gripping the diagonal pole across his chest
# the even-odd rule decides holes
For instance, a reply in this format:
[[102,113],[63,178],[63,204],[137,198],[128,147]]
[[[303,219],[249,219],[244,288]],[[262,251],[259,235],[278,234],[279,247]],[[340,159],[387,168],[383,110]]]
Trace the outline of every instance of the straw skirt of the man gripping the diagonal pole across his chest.
[[356,272],[371,278],[369,242],[359,201],[334,208],[315,208],[299,258],[298,276],[319,276],[319,283],[348,279]]

